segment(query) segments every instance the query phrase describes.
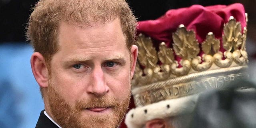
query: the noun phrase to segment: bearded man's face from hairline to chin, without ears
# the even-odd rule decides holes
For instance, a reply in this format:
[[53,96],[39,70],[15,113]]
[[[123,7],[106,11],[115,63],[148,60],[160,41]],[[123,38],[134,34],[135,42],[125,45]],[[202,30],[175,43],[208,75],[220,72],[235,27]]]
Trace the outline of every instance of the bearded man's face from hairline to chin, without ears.
[[114,128],[130,100],[131,62],[119,19],[78,27],[60,23],[46,112],[62,127]]

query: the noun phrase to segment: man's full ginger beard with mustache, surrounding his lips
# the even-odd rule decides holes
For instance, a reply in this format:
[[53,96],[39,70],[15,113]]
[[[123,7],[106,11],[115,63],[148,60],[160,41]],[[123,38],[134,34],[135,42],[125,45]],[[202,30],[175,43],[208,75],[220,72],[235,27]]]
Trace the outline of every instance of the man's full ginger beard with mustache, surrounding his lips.
[[[62,128],[117,128],[122,122],[130,102],[130,93],[122,101],[107,96],[92,96],[88,100],[77,101],[72,107],[60,96],[52,84],[49,85],[47,94],[50,112]],[[110,107],[112,112],[104,115],[82,114],[86,108],[95,107]]]

